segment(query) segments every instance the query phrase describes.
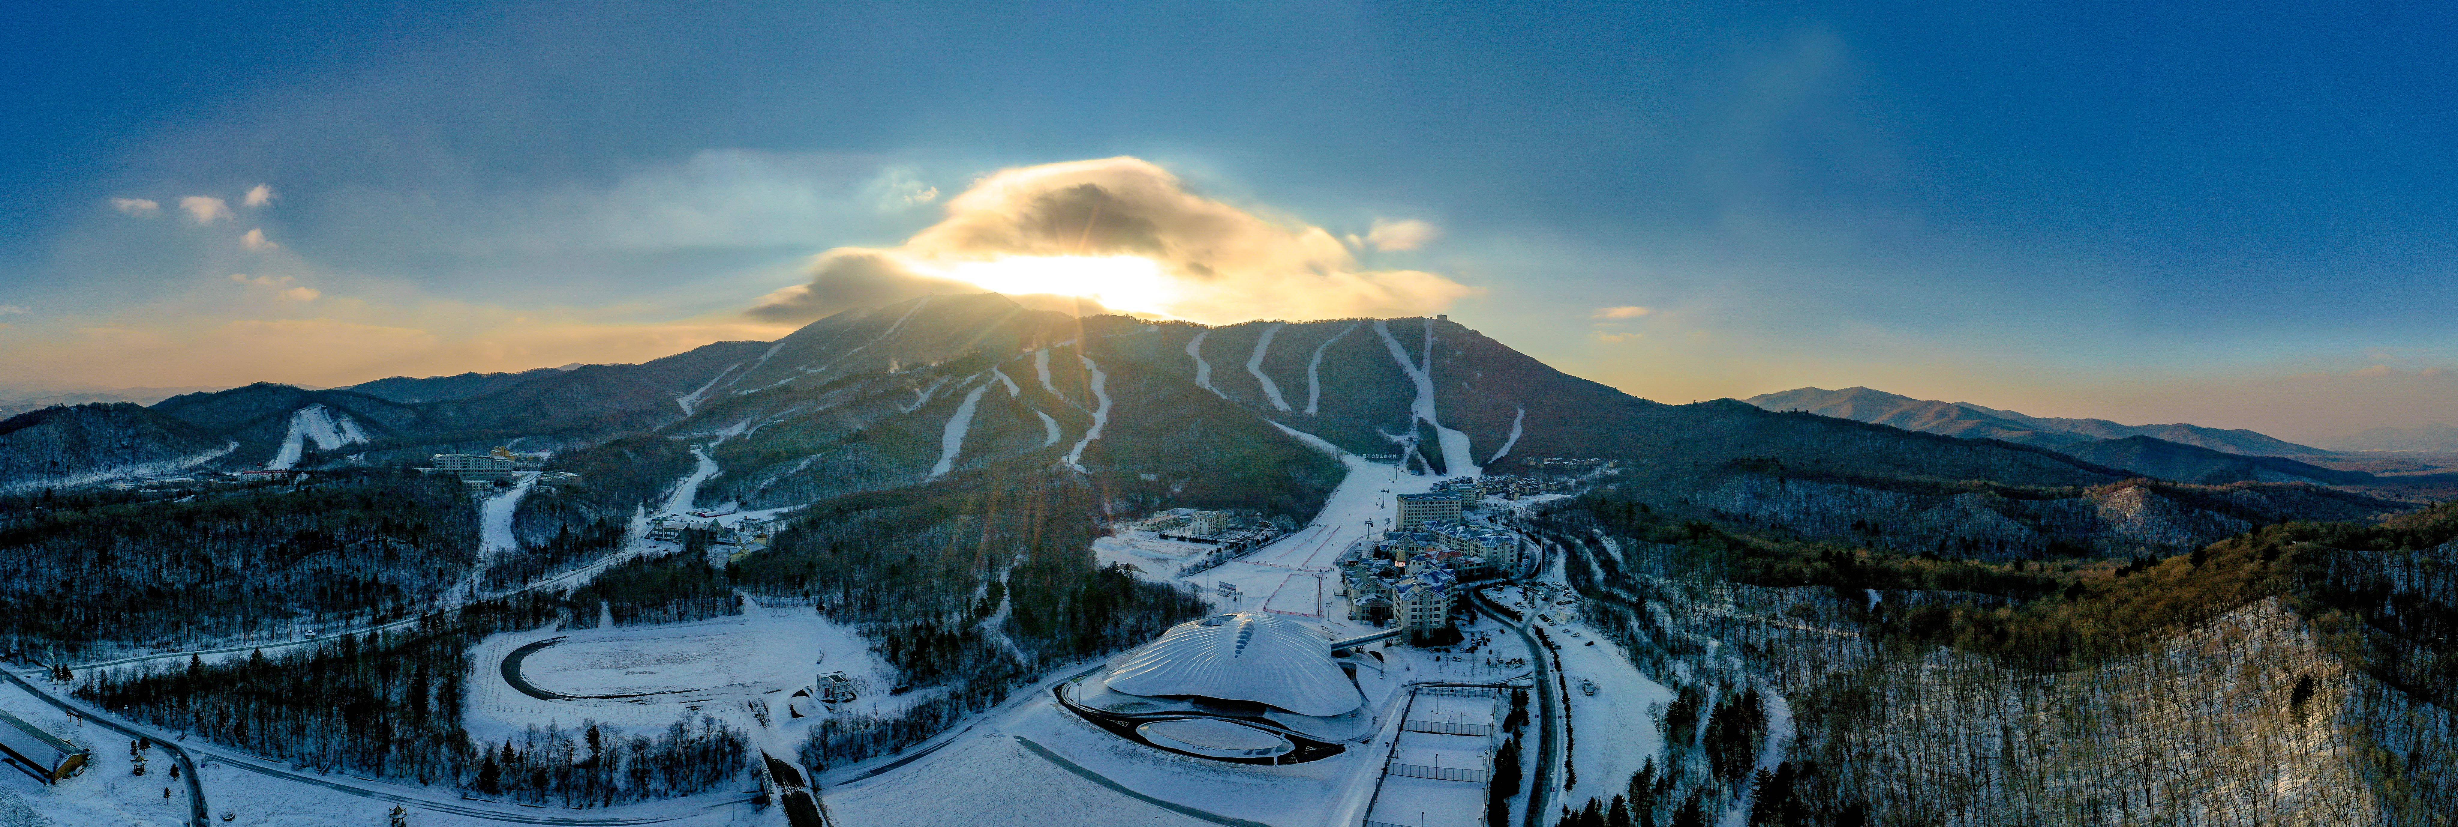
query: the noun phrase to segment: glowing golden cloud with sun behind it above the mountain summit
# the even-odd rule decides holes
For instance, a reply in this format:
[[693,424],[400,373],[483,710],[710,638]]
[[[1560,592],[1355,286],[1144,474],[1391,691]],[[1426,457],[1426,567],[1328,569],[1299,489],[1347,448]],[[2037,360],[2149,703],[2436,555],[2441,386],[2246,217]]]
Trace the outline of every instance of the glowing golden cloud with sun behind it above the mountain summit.
[[[1423,238],[1423,236],[1421,236]],[[897,248],[838,248],[755,319],[806,321],[927,292],[1069,297],[1190,321],[1406,317],[1472,287],[1423,270],[1364,270],[1320,226],[1266,218],[1185,189],[1168,169],[1106,157],[1000,169],[946,201]]]

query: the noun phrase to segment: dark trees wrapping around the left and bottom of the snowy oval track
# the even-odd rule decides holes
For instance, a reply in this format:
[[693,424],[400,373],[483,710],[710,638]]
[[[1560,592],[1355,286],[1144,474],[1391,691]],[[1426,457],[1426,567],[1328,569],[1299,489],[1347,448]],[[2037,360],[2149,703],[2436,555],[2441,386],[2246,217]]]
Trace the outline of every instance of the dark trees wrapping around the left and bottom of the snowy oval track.
[[130,719],[192,731],[324,773],[366,773],[499,800],[597,807],[696,795],[737,780],[740,734],[683,717],[659,734],[526,729],[499,744],[462,729],[469,648],[563,618],[553,596],[469,604],[371,636],[160,670],[93,670],[76,694]]

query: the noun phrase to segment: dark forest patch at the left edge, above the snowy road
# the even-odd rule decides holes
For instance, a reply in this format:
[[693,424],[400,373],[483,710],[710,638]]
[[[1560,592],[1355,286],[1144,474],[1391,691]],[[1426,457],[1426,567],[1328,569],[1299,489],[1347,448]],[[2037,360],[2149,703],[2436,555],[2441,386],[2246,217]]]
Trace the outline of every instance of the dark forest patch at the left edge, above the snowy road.
[[0,653],[88,660],[398,616],[477,547],[460,486],[406,471],[52,503],[0,523]]

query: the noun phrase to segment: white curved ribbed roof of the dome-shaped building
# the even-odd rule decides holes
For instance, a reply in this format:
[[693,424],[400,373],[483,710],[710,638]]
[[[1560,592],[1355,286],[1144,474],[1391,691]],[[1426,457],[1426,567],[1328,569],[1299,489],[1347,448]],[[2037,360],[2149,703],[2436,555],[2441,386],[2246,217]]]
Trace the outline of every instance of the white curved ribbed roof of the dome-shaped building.
[[1109,670],[1111,692],[1241,699],[1335,717],[1364,704],[1332,643],[1276,614],[1219,614],[1172,626]]

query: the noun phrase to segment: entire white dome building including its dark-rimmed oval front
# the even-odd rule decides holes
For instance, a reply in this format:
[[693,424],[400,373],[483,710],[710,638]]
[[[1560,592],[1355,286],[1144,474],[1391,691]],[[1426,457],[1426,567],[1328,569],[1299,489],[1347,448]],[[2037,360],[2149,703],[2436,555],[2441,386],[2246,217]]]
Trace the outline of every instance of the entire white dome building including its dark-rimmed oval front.
[[1067,682],[1059,702],[1133,741],[1222,761],[1313,761],[1372,734],[1332,640],[1256,611],[1177,623]]

